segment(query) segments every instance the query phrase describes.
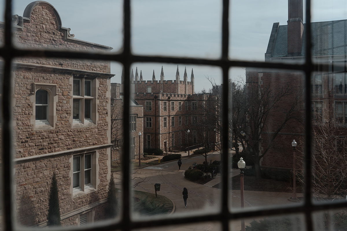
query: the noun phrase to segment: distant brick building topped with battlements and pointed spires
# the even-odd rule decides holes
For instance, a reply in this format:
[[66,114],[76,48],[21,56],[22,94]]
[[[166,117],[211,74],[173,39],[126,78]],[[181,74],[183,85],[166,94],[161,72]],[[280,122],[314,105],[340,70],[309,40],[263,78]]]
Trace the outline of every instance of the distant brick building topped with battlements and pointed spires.
[[[142,71],[135,76],[132,71],[131,81],[134,99],[143,105],[143,148],[162,149],[165,153],[183,151],[189,146],[201,146],[198,135],[198,122],[205,113],[206,102],[213,98],[210,95],[194,94],[194,73],[188,81],[187,70],[184,71],[183,81],[180,80],[177,66],[176,80],[164,80],[163,67],[160,81],[144,81]],[[122,81],[124,81],[122,75]],[[211,106],[212,104],[210,104]],[[210,144],[215,143],[214,125],[207,133]],[[189,129],[189,133],[187,133]],[[213,148],[213,147],[212,147]],[[136,152],[135,152],[136,153]]]

